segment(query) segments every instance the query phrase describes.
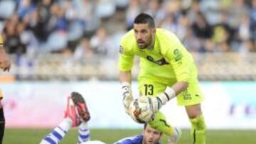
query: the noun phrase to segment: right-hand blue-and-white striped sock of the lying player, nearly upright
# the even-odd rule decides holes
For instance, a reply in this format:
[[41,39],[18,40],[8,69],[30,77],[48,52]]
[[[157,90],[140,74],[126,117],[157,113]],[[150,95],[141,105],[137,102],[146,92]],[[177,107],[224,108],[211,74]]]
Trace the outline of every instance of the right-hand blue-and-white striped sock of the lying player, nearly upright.
[[90,129],[88,128],[88,125],[86,122],[82,122],[80,124],[78,132],[79,132],[78,143],[82,143],[90,140]]

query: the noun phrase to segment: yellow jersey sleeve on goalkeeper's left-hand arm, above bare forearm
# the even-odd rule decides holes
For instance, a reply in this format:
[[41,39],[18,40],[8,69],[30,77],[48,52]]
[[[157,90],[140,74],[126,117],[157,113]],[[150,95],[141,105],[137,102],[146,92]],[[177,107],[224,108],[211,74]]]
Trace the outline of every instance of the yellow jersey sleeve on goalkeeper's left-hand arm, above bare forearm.
[[122,72],[132,70],[134,55],[130,51],[129,45],[125,45],[124,40],[122,40],[119,49],[120,55],[118,63],[119,70]]

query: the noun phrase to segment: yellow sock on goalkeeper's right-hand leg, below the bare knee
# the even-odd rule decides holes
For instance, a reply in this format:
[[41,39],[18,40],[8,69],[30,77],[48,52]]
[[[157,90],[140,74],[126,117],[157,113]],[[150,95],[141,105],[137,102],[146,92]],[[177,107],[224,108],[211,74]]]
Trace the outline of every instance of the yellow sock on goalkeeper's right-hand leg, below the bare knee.
[[193,144],[205,144],[206,143],[206,123],[203,115],[197,118],[191,118],[191,136],[193,138]]

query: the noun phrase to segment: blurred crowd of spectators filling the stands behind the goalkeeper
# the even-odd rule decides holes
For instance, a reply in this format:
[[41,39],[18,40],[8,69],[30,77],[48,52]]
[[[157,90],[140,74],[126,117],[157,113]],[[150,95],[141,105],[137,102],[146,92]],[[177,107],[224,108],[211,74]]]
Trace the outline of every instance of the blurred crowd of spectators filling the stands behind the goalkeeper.
[[11,54],[117,57],[142,12],[191,52],[256,52],[256,0],[1,0],[0,31]]

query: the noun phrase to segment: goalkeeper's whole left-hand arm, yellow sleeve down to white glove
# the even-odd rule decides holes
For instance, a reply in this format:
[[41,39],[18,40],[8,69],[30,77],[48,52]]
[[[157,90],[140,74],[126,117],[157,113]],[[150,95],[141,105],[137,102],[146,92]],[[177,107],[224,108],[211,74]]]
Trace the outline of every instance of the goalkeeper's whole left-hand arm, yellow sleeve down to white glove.
[[[121,50],[122,49],[122,50]],[[119,80],[122,84],[122,100],[125,112],[129,114],[129,105],[131,104],[132,97],[132,66],[133,66],[134,55],[125,51],[122,46],[120,46],[120,56],[119,56]]]

